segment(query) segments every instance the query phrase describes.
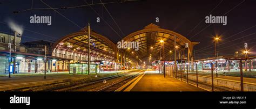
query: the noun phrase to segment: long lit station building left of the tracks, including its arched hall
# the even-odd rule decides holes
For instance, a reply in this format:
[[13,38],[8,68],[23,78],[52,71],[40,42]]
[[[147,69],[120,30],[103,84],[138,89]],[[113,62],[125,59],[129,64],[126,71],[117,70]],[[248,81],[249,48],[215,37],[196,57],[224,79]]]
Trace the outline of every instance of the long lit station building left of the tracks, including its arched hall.
[[[21,37],[18,37],[16,49],[12,47],[11,60],[9,60],[8,43],[12,42],[14,36],[0,34],[0,37],[1,74],[9,73],[9,64],[15,70],[13,74],[39,73],[44,72],[45,68],[47,72],[73,72],[73,68],[77,68],[77,72],[83,69],[82,73],[86,73],[88,57],[90,57],[91,72],[120,70],[120,64],[115,58],[116,45],[95,31],[90,31],[90,55],[88,55],[89,40],[86,27],[64,36],[55,43],[43,40],[21,43]],[[44,58],[45,56],[47,58]]]

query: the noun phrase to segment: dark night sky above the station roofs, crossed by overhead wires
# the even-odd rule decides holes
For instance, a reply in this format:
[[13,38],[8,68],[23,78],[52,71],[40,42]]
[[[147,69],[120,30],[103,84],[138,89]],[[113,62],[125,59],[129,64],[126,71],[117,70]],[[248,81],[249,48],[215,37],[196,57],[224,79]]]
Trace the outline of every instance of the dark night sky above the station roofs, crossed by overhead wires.
[[[43,2],[52,8],[86,5],[83,0],[44,0]],[[102,0],[102,2],[117,1]],[[91,4],[92,1],[87,0],[87,3]],[[95,0],[93,3],[100,3],[100,1]],[[67,34],[79,31],[87,23],[90,23],[92,30],[117,43],[126,35],[142,30],[146,25],[153,23],[161,28],[184,35],[193,42],[200,42],[199,45],[195,46],[196,59],[213,56],[212,37],[215,35],[221,35],[222,39],[218,42],[220,46],[217,47],[219,55],[233,55],[235,51],[240,52],[244,48],[244,42],[247,42],[248,48],[251,48],[250,54],[256,55],[256,1],[253,0],[138,1],[105,4],[122,32],[114,24],[109,13],[103,9],[102,4],[92,5],[92,8],[118,34],[102,19],[100,19],[100,23],[97,23],[98,14],[90,6],[56,10],[76,25],[51,9],[23,11],[31,9],[31,6],[33,9],[49,8],[38,0],[33,0],[33,4],[32,0],[0,0],[0,32],[9,34],[11,32],[10,28],[4,23],[13,20],[25,29],[22,34],[22,42],[33,40],[54,42]],[[14,13],[14,11],[19,12]],[[34,14],[37,16],[51,16],[52,24],[50,26],[47,24],[30,24],[30,16],[34,16]],[[206,24],[205,17],[209,14],[212,14],[212,16],[227,16],[227,25]],[[156,17],[159,17],[159,23],[156,23]]]

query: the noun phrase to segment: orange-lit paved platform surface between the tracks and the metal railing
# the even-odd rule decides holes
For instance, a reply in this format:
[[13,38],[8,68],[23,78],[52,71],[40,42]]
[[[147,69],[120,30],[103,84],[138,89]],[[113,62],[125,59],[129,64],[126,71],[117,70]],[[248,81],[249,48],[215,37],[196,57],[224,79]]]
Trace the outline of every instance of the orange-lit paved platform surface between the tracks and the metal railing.
[[131,91],[206,91],[172,77],[164,78],[158,71],[147,71]]

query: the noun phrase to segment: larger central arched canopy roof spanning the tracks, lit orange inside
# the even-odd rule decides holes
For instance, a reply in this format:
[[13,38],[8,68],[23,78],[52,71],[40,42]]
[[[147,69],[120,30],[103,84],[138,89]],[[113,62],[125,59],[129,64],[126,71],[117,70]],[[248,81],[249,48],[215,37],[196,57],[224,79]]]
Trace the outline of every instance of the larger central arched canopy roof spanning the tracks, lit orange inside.
[[[176,37],[176,46],[178,46],[177,51],[185,48],[185,43],[188,43],[191,47],[198,44],[197,42],[191,42],[183,35],[160,28],[157,25],[149,24],[143,30],[139,30],[127,35],[123,40],[124,41],[138,41],[139,50],[132,50],[131,55],[138,56],[139,59],[144,59],[145,57],[152,57],[158,59],[163,56],[163,43],[160,40],[164,41],[165,45],[165,57],[168,58],[171,56],[171,53],[174,52],[174,38]],[[152,47],[152,48],[151,48]],[[172,52],[170,52],[170,50]],[[153,61],[153,60],[152,60]]]

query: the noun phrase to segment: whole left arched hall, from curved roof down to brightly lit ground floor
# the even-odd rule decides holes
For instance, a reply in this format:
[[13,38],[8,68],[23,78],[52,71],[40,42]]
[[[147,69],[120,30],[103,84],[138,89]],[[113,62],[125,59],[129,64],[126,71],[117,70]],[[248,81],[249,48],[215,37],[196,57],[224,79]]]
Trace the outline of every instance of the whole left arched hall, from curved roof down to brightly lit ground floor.
[[[58,66],[76,74],[88,74],[88,35],[87,28],[71,33],[58,40],[52,49],[52,56],[71,59],[69,62],[56,62]],[[90,31],[90,73],[118,70],[115,59],[116,45],[103,35]],[[100,64],[111,62],[111,64]]]

